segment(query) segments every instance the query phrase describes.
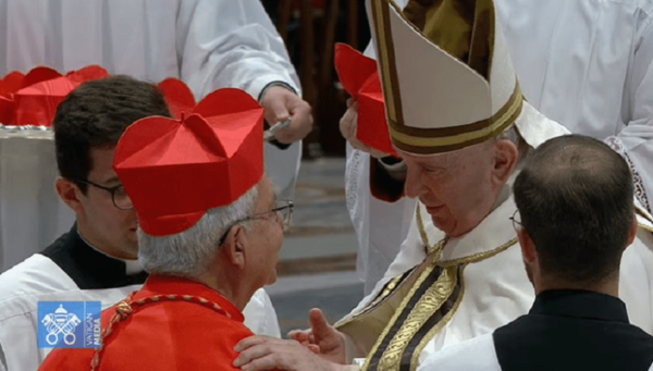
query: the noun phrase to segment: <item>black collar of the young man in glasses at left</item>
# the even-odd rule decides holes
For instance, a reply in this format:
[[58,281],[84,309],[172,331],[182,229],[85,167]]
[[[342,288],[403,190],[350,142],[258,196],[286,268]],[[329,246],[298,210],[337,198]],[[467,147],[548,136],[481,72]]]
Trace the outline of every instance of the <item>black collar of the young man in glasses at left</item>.
[[147,273],[127,274],[126,264],[85,243],[73,225],[41,253],[63,270],[81,289],[115,288],[143,284]]

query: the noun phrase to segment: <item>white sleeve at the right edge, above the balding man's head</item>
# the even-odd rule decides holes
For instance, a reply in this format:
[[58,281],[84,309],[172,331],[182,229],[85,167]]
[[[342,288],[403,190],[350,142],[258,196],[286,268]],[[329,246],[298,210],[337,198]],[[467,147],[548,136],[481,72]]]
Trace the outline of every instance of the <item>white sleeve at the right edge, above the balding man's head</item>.
[[[636,187],[641,182],[649,209],[653,203],[653,16],[640,27],[634,45],[632,62],[627,74],[621,120],[626,125],[616,138],[623,144],[627,158],[632,162]],[[607,140],[609,140],[608,138]],[[608,141],[609,143],[609,141]],[[614,146],[613,146],[614,147]],[[640,198],[641,200],[641,198]]]

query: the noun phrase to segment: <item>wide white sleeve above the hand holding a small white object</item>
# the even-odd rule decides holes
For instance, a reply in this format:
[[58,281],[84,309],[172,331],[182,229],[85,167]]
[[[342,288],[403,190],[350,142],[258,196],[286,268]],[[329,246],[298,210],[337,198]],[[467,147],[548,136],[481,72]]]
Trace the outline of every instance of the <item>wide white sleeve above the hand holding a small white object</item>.
[[181,78],[196,98],[236,87],[258,99],[275,81],[300,94],[283,40],[258,0],[182,0],[176,48]]

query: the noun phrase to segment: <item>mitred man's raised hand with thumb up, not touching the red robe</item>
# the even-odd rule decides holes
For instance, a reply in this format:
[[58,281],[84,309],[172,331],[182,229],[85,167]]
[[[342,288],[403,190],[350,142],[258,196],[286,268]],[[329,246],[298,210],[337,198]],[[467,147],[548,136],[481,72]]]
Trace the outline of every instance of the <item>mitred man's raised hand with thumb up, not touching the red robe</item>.
[[294,330],[288,337],[308,347],[318,346],[319,355],[334,363],[344,364],[345,336],[324,319],[320,309],[313,308],[308,313],[310,330]]

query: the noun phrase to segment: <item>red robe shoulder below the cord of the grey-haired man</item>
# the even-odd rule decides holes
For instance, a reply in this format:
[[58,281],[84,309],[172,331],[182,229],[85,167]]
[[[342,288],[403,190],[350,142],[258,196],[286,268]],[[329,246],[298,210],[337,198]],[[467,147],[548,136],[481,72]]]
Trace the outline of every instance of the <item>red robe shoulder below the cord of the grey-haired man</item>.
[[[115,307],[102,312],[104,327],[114,313]],[[131,316],[130,321],[114,323],[112,333],[118,335],[104,339],[100,359],[104,367],[124,370],[127,362],[128,369],[147,369],[152,364],[167,369],[169,364],[178,364],[180,359],[184,359],[188,370],[231,364],[238,356],[235,345],[254,335],[242,322],[223,312],[192,302],[161,301],[144,306]],[[135,342],[152,346],[135,348]],[[65,363],[58,359],[54,364]]]

